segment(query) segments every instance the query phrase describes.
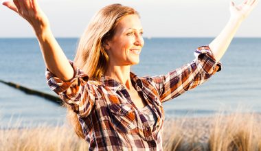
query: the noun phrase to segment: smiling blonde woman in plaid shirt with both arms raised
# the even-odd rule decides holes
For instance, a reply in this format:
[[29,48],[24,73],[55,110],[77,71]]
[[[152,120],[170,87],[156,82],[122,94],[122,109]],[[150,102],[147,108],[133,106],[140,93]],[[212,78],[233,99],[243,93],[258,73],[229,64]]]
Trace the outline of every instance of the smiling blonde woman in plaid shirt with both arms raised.
[[108,5],[89,23],[74,61],[56,42],[36,0],[4,2],[33,27],[47,67],[47,83],[67,104],[76,134],[89,150],[162,150],[163,106],[220,71],[220,58],[240,23],[257,4],[231,2],[231,17],[208,46],[195,51],[188,65],[155,77],[138,77],[144,45],[139,14],[120,4]]

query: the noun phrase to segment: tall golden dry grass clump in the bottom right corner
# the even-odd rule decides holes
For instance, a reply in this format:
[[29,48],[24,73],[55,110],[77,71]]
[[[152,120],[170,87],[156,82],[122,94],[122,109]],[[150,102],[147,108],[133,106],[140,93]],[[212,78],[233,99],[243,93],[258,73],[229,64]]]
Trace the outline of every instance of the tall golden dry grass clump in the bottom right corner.
[[218,150],[261,150],[260,115],[234,114],[216,117],[209,137],[209,148]]

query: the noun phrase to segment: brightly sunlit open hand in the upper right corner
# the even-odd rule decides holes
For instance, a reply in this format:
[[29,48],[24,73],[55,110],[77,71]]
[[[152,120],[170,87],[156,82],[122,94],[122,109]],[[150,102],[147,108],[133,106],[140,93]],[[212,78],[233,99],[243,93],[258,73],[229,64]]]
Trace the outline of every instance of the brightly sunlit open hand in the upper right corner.
[[231,19],[244,20],[249,16],[253,8],[258,4],[258,0],[245,0],[239,5],[236,5],[233,1],[230,4]]

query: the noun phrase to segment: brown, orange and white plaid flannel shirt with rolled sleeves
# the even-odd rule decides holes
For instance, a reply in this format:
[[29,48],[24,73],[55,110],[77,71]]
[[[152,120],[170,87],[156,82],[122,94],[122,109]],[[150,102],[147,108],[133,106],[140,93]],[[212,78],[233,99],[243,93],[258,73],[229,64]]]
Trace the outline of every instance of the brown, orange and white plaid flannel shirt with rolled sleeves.
[[221,69],[208,46],[199,47],[194,55],[190,64],[166,75],[138,77],[130,73],[133,86],[157,116],[153,128],[124,86],[112,78],[89,80],[69,61],[75,71],[73,78],[63,82],[47,69],[47,84],[78,114],[89,150],[163,150],[162,102],[202,84]]

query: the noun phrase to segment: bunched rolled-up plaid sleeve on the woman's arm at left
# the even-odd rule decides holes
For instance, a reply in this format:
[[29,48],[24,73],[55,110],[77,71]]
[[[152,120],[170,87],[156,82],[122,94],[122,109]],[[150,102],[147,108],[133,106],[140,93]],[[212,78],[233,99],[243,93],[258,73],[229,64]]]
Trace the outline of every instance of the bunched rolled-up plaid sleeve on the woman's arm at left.
[[66,104],[69,104],[74,112],[78,115],[87,116],[91,113],[95,101],[95,93],[88,82],[88,75],[73,65],[69,60],[71,67],[73,67],[73,78],[67,82],[60,80],[48,69],[45,71],[47,84]]

